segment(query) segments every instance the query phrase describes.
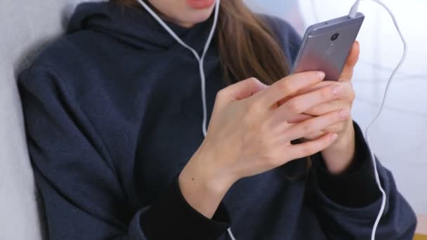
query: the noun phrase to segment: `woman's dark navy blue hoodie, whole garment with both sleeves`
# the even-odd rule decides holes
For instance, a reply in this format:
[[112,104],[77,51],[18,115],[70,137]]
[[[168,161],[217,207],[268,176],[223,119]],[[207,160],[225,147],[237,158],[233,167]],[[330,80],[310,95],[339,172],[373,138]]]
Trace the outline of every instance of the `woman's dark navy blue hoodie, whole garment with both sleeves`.
[[[300,38],[266,17],[289,61]],[[202,51],[211,20],[172,29]],[[210,112],[225,87],[218,48],[205,60]],[[370,239],[381,205],[372,161],[357,125],[356,156],[330,175],[322,156],[239,180],[213,219],[185,201],[177,175],[202,143],[198,63],[145,11],[81,4],[68,34],[22,73],[19,89],[29,154],[48,238]],[[209,119],[209,118],[208,118]],[[412,239],[416,220],[379,164],[387,205],[376,239]]]

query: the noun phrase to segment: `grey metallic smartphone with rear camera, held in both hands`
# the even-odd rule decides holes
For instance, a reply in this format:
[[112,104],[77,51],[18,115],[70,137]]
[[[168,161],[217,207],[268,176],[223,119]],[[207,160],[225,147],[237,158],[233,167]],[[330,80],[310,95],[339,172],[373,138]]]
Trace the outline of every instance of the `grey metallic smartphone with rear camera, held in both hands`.
[[364,15],[348,15],[308,27],[303,44],[292,67],[292,73],[322,71],[325,80],[339,79]]

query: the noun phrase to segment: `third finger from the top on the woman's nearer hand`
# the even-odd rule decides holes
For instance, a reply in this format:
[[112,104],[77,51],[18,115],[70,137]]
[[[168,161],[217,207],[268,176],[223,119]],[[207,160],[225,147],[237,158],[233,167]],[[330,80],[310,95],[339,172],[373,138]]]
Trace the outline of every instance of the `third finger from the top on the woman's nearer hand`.
[[346,109],[340,111],[329,112],[322,116],[316,116],[312,119],[301,122],[300,124],[294,124],[291,128],[288,128],[284,135],[287,140],[295,140],[298,138],[304,138],[317,131],[321,131],[324,128],[338,124],[341,121],[346,121],[350,117],[350,112]]

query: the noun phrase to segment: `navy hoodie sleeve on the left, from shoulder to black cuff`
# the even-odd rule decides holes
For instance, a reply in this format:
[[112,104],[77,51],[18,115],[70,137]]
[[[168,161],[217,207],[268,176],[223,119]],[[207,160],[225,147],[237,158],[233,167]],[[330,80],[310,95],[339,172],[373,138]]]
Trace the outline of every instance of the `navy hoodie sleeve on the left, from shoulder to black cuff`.
[[185,201],[177,178],[152,206],[131,209],[103,140],[63,77],[32,67],[18,86],[48,239],[216,239],[226,231],[223,204],[205,218]]

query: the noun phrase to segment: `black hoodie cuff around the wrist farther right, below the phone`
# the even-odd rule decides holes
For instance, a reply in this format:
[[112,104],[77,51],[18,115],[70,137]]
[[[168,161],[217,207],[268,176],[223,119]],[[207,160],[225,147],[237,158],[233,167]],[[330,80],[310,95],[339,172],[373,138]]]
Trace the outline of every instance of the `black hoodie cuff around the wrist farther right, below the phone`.
[[[320,190],[336,204],[359,208],[372,204],[381,196],[375,175],[374,165],[360,127],[355,128],[355,159],[350,167],[339,175],[329,173],[322,154],[313,156],[313,171],[317,176]],[[380,167],[380,166],[379,166]]]

